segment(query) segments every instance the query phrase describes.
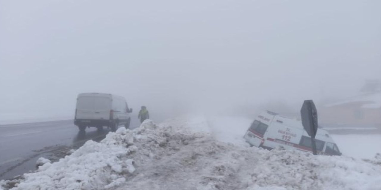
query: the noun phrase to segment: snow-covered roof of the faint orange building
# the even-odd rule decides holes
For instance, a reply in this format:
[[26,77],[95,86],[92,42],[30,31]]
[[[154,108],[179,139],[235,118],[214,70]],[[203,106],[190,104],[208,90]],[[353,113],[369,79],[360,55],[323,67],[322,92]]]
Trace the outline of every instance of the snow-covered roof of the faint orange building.
[[339,106],[345,104],[359,103],[361,108],[381,108],[381,92],[363,93],[361,95],[350,97],[342,101],[331,103],[326,107]]

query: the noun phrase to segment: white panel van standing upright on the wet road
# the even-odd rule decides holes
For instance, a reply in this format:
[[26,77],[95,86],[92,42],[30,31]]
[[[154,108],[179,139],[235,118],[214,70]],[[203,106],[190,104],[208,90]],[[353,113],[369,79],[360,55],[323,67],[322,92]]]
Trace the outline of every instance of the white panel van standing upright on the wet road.
[[75,108],[74,124],[80,131],[86,127],[103,126],[117,130],[119,125],[130,127],[132,109],[128,108],[125,98],[108,93],[80,93]]

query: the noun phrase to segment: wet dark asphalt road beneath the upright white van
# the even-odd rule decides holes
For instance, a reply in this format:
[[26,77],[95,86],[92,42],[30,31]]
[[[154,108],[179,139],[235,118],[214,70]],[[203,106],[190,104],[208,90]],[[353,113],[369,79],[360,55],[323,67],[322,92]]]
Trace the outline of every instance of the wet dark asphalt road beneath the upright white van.
[[[132,117],[130,128],[139,125]],[[101,141],[108,132],[92,127],[78,133],[73,120],[0,125],[0,180],[33,171],[40,157],[58,160],[90,139]]]

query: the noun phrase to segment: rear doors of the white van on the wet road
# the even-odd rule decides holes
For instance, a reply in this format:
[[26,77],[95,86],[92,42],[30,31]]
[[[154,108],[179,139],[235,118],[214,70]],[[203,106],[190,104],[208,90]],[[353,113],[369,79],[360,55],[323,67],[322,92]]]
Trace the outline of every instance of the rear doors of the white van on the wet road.
[[77,100],[77,119],[110,119],[111,98],[81,96]]

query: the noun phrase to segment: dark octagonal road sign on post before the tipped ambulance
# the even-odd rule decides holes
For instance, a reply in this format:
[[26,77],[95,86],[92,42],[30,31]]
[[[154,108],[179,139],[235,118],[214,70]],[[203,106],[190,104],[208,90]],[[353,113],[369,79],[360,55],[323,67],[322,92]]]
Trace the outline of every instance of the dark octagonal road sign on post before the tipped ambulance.
[[307,134],[311,137],[312,150],[314,155],[316,153],[316,143],[315,136],[318,128],[317,124],[317,110],[312,100],[304,100],[303,106],[300,110],[302,124],[304,130],[307,131]]

